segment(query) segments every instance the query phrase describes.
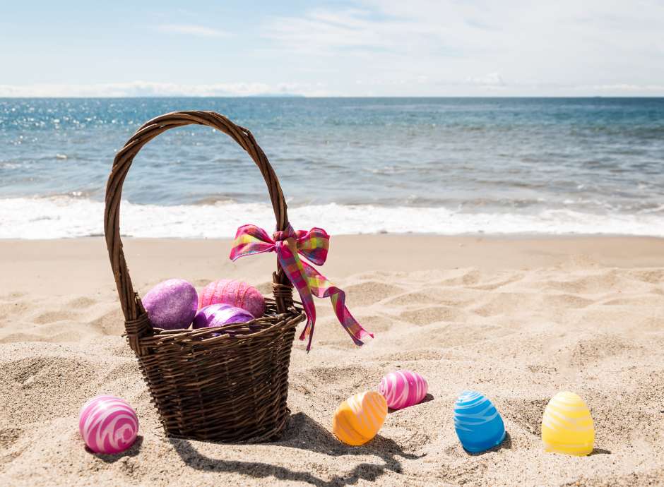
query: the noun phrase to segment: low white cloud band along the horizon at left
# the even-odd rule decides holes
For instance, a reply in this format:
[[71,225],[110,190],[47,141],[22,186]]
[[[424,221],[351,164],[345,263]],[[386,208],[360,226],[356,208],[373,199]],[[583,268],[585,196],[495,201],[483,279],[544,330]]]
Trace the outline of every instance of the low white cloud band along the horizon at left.
[[256,95],[327,96],[336,93],[316,83],[214,83],[188,85],[134,81],[87,85],[0,85],[0,97],[244,97]]

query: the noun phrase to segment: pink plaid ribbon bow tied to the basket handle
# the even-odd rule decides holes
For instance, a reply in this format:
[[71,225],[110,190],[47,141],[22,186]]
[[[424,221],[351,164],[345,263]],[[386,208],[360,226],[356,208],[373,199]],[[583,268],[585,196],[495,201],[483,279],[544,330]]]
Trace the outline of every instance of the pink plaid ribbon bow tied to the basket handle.
[[307,314],[307,325],[300,335],[304,340],[309,337],[307,351],[312,347],[314,325],[316,323],[316,306],[312,295],[319,298],[330,298],[334,313],[339,323],[352,338],[356,345],[362,345],[364,337],[374,337],[364,330],[360,323],[352,317],[345,306],[345,293],[328,281],[314,267],[300,260],[298,253],[316,265],[323,265],[327,259],[330,237],[321,228],[312,228],[309,232],[295,230],[288,225],[283,232],[275,232],[271,239],[268,233],[256,225],[243,225],[237,229],[235,241],[230,251],[231,260],[254,253],[276,252],[281,268],[300,293],[304,313]]

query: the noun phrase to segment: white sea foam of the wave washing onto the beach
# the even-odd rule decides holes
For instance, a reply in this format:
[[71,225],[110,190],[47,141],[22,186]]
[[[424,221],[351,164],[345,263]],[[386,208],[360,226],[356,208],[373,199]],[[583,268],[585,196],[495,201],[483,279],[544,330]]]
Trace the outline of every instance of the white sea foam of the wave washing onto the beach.
[[[330,234],[622,234],[664,236],[664,216],[653,213],[591,214],[574,210],[462,212],[449,208],[378,205],[307,205],[288,209],[296,229],[322,227]],[[70,196],[0,200],[0,239],[99,236],[104,204]],[[215,224],[211,224],[215,222]],[[242,224],[271,231],[272,208],[260,203],[137,205],[123,201],[121,234],[134,237],[232,238]]]

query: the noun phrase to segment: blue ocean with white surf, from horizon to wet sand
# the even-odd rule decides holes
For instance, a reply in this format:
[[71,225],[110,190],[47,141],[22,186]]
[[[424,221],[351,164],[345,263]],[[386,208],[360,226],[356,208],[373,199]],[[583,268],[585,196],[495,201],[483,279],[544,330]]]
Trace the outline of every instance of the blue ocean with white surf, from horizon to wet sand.
[[[297,229],[664,236],[664,98],[245,97],[0,99],[0,238],[101,235],[115,152],[179,109],[254,133]],[[207,127],[146,145],[123,199],[129,236],[274,227],[249,156]]]

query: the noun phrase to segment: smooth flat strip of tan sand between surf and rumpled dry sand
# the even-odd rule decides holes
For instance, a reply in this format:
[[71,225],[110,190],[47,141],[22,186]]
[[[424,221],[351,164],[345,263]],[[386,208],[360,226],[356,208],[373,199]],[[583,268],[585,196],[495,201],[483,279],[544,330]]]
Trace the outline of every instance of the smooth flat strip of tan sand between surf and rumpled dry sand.
[[[253,255],[232,263],[231,239],[123,238],[125,257],[138,289],[170,277],[196,280],[211,271],[240,279],[266,273],[274,254]],[[0,282],[0,295],[11,291],[114,289],[105,239],[0,240],[0,267],[12,279]],[[179,256],[172,259],[173,255]],[[62,262],[78,265],[63,269]],[[165,265],[165,262],[168,264]],[[371,234],[332,236],[324,275],[361,272],[415,272],[474,267],[478,270],[530,270],[576,263],[605,267],[664,266],[664,239],[641,236],[427,236]],[[39,279],[35,282],[35,276]],[[150,276],[153,276],[150,278]],[[62,282],[66,278],[66,282]],[[137,289],[137,290],[138,290]]]

